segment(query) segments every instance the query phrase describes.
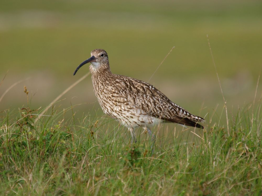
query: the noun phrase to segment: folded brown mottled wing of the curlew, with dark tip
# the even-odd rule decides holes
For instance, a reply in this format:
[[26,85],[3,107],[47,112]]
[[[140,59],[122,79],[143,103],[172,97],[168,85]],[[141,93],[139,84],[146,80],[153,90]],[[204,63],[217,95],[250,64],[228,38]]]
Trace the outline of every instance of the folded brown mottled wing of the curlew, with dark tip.
[[130,104],[143,109],[148,115],[169,122],[203,128],[202,125],[197,124],[197,122],[205,122],[203,118],[195,116],[173,103],[151,84],[125,76],[119,78],[118,75],[115,86],[119,95],[125,96]]

